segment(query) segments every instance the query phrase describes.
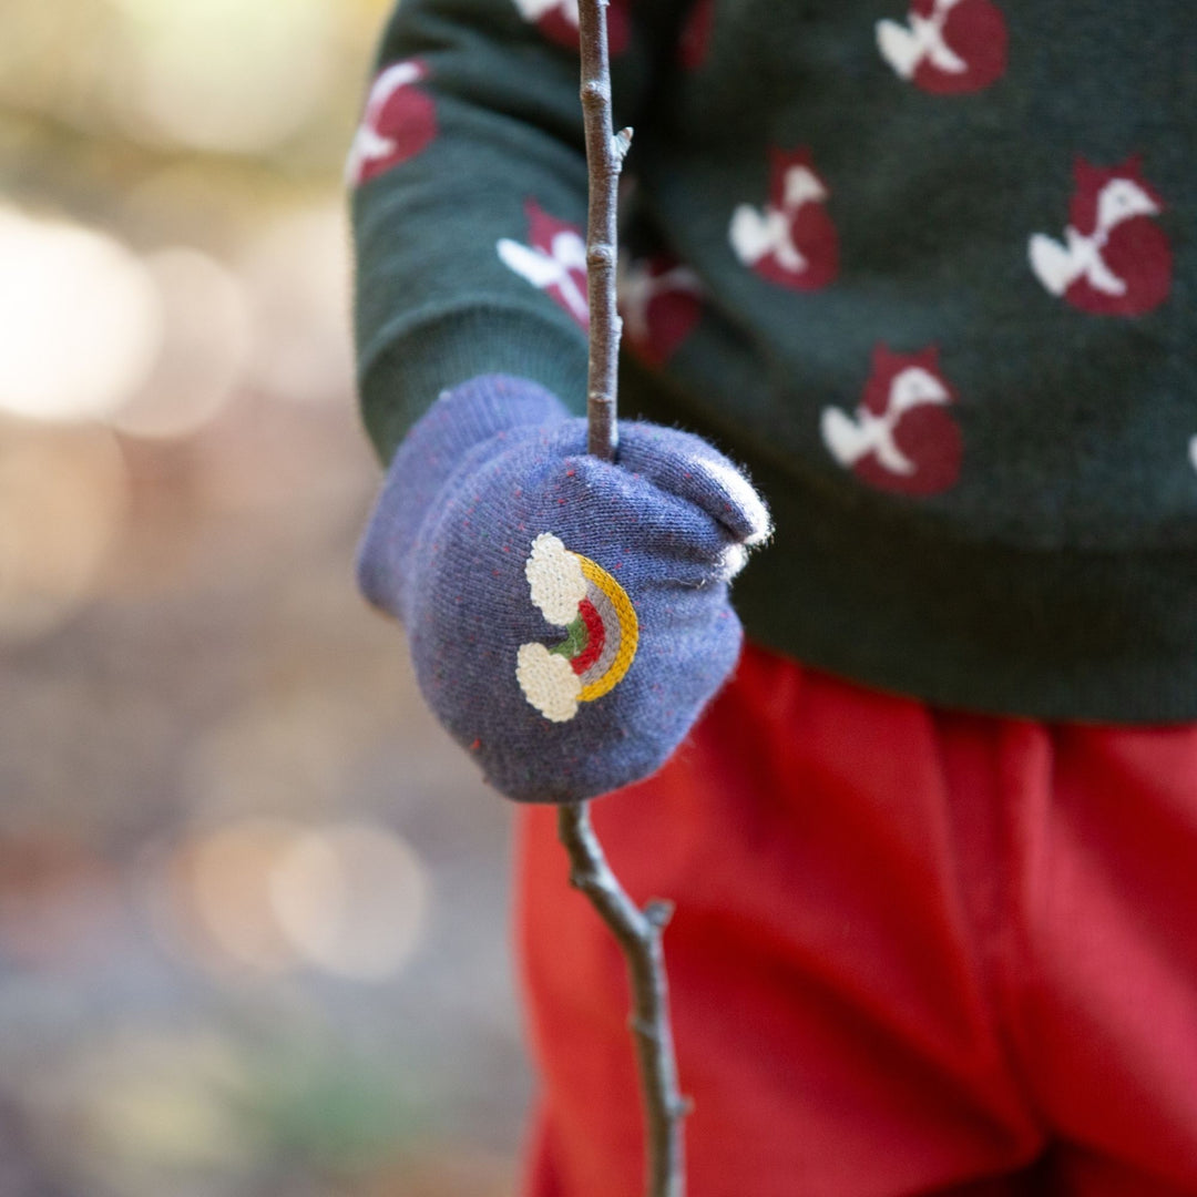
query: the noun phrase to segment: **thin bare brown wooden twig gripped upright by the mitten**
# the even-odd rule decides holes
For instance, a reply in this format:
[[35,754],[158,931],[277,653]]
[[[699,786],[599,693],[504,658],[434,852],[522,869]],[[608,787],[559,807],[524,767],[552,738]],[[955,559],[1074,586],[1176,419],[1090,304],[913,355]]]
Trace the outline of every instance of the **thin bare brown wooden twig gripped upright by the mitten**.
[[[612,132],[607,0],[581,0],[582,111],[585,122],[590,203],[587,221],[587,281],[590,303],[590,367],[587,379],[589,450],[615,460],[620,318],[615,310],[616,205],[619,172],[632,130]],[[669,988],[661,935],[673,913],[666,901],[644,910],[628,898],[607,864],[585,802],[565,803],[558,833],[570,856],[570,882],[590,899],[619,941],[632,988],[631,1029],[644,1096],[649,1197],[685,1197],[682,1119],[688,1104],[678,1088]]]

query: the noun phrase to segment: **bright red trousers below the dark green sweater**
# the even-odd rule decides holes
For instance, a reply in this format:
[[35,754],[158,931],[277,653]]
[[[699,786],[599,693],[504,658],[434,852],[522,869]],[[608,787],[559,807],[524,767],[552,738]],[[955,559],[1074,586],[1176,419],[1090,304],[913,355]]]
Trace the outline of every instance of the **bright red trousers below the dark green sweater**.
[[[666,956],[688,1197],[1197,1195],[1197,725],[949,713],[749,649],[595,803]],[[639,1197],[622,958],[522,813],[525,1192]]]

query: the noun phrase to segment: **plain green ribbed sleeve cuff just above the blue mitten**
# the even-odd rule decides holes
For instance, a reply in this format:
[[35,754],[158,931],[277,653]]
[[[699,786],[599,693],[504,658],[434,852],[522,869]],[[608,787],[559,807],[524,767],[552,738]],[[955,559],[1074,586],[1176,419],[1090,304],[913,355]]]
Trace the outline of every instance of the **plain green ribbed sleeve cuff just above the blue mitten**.
[[442,391],[480,375],[537,382],[585,412],[587,342],[576,329],[511,306],[460,308],[391,324],[359,358],[361,414],[383,463]]

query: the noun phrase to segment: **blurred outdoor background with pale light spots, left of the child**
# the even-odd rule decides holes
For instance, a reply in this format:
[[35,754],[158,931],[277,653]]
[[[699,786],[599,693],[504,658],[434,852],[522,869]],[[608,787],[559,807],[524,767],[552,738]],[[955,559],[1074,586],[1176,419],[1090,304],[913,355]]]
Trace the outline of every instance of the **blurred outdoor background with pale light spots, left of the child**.
[[385,8],[0,5],[2,1197],[512,1189],[509,810],[353,589]]

